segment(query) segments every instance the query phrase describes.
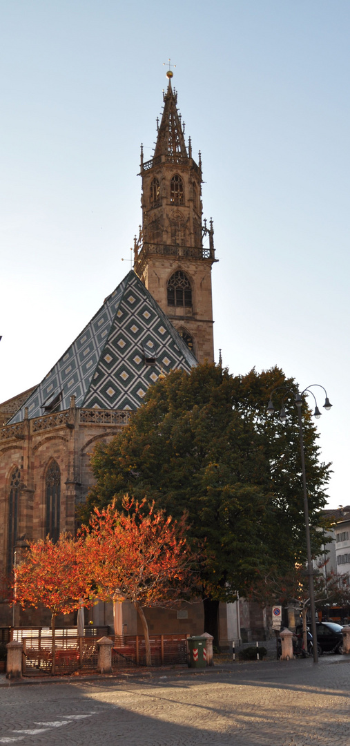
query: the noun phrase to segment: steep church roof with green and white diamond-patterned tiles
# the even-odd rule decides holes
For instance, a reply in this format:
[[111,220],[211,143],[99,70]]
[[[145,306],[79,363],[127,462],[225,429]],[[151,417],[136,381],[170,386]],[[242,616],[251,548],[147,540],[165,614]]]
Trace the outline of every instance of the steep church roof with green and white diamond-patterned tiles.
[[[148,349],[149,360],[156,352],[154,364],[145,362]],[[54,411],[67,410],[73,395],[77,407],[136,410],[161,369],[189,371],[196,365],[196,357],[131,270],[10,423],[24,419],[25,407],[30,419],[45,414],[56,397]]]

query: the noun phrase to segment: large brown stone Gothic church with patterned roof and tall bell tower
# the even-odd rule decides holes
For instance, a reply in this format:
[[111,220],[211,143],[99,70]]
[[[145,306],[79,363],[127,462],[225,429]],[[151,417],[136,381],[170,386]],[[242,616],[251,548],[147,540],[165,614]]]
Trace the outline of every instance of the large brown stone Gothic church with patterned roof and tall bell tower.
[[[170,70],[167,78],[151,160],[143,160],[141,145],[143,222],[134,270],[41,383],[0,404],[0,558],[7,573],[26,542],[74,533],[75,508],[93,484],[94,445],[128,424],[149,386],[170,370],[214,360],[213,222],[203,219],[201,154],[197,163]],[[125,631],[134,634],[136,617],[124,606]],[[148,609],[150,631],[201,634],[199,606]],[[241,636],[237,604],[228,606],[220,604],[222,642]],[[249,614],[248,607],[242,611]],[[89,613],[96,624],[113,624],[104,604]],[[11,620],[2,601],[0,626]],[[35,609],[16,608],[17,625],[40,623]],[[251,626],[249,618],[245,624]]]

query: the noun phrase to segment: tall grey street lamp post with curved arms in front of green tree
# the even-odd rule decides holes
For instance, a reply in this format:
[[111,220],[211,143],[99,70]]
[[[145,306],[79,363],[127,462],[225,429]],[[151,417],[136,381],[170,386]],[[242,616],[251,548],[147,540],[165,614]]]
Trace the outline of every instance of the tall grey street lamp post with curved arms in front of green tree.
[[[325,392],[325,404],[323,407],[325,410],[329,411],[331,409],[331,403],[328,399],[327,392],[324,388],[324,386],[320,386],[319,383],[312,383],[310,386],[307,386],[304,391],[301,391],[301,393],[294,392],[291,389],[287,389],[286,394],[284,395],[283,401],[282,401],[282,407],[280,412],[280,419],[281,422],[285,422],[287,419],[286,416],[286,410],[284,409],[284,400],[287,397],[288,394],[292,394],[294,397],[294,401],[296,404],[296,408],[298,410],[298,423],[299,423],[299,437],[300,437],[300,455],[301,455],[301,474],[302,474],[302,483],[303,483],[303,492],[304,492],[304,516],[305,516],[305,535],[306,535],[306,551],[307,551],[307,576],[309,579],[309,594],[310,594],[310,614],[311,614],[311,630],[312,630],[312,636],[313,636],[313,662],[317,663],[319,661],[319,656],[317,653],[317,630],[316,630],[316,612],[315,612],[315,593],[313,589],[313,565],[312,565],[312,558],[311,558],[311,542],[310,542],[310,519],[309,519],[309,504],[307,501],[307,486],[306,486],[306,471],[305,471],[305,454],[304,454],[304,436],[303,436],[303,427],[302,427],[302,419],[301,419],[301,406],[303,404],[303,395],[307,395],[310,393],[314,400],[315,400],[315,411],[313,413],[313,416],[316,419],[319,419],[321,416],[321,412],[319,411],[319,407],[317,406],[317,401],[315,398],[315,395],[312,391],[310,391],[311,388],[318,386],[320,389],[323,389]],[[277,391],[278,389],[284,389],[284,386],[278,386],[276,389],[274,389],[270,395],[269,398],[269,404],[267,407],[267,413],[269,415],[273,415],[275,412],[275,407],[272,403],[272,395]]]

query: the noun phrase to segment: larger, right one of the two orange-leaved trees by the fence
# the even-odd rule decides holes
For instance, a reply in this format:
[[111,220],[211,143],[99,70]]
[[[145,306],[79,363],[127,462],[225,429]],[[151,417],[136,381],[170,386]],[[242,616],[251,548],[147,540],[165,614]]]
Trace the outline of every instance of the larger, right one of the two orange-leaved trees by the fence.
[[[194,592],[196,556],[185,538],[184,518],[176,523],[146,500],[125,496],[123,513],[112,503],[95,509],[83,528],[92,582],[101,601],[131,601],[140,615],[151,665],[144,607],[165,606]],[[198,589],[197,589],[198,591]]]

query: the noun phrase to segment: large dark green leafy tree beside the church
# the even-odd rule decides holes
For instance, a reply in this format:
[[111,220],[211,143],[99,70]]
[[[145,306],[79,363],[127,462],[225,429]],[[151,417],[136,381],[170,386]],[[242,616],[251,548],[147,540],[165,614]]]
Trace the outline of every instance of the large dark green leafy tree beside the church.
[[[204,364],[175,371],[149,389],[131,424],[92,458],[96,486],[84,505],[113,498],[121,509],[128,492],[155,501],[175,519],[187,511],[189,539],[204,545],[201,567],[205,631],[217,638],[219,601],[246,592],[257,571],[276,555],[281,567],[303,561],[304,505],[296,407],[287,421],[266,416],[272,389],[296,391],[293,379],[274,368],[232,376]],[[278,405],[278,395],[274,399]],[[329,465],[319,463],[317,433],[303,407],[304,442],[312,524],[325,504]],[[313,533],[315,551],[319,536]]]

